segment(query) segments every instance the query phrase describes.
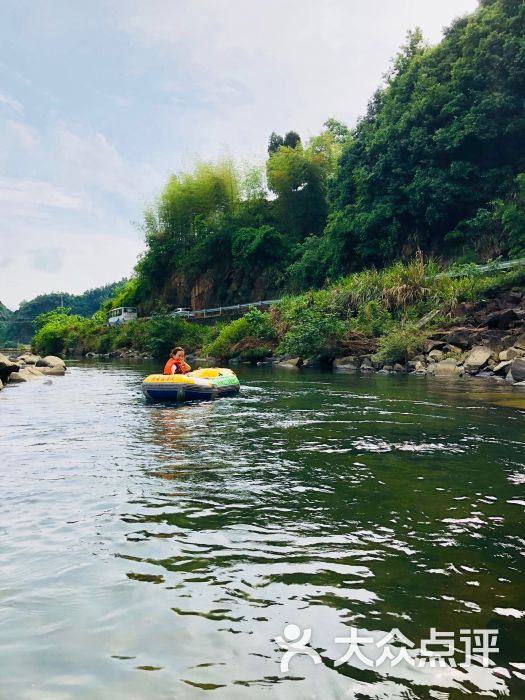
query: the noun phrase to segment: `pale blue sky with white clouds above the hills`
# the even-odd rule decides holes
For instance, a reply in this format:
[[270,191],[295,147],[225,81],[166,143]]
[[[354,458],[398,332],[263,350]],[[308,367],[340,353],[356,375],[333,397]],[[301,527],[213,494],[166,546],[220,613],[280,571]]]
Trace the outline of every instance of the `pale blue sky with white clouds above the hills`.
[[129,276],[169,175],[350,127],[476,0],[0,0],[0,301]]

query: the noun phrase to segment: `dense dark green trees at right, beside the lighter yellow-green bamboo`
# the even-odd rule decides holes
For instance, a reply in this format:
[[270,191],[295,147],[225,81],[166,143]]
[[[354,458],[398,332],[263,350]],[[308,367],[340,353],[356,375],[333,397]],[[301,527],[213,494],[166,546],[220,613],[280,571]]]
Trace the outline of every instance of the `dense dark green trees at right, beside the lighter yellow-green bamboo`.
[[520,254],[524,31],[523,3],[494,0],[436,47],[409,35],[331,183],[326,234],[341,272],[417,248]]

